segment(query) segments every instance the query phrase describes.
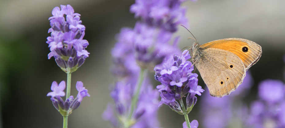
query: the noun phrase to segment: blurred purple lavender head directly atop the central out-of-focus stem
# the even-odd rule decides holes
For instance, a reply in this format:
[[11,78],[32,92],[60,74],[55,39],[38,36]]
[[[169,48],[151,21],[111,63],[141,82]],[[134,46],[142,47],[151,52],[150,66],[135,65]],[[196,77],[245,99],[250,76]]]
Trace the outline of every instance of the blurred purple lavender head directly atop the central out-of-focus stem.
[[154,67],[162,63],[166,56],[173,55],[179,51],[176,45],[178,39],[174,40],[173,45],[169,44],[172,36],[170,32],[137,22],[134,33],[135,58],[140,67]]

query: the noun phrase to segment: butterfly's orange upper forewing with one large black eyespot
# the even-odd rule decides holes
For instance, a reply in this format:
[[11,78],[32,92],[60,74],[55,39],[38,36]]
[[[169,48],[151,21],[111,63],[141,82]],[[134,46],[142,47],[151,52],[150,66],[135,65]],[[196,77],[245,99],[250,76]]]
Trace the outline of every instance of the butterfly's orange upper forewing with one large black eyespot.
[[202,44],[200,48],[218,48],[236,54],[244,63],[245,70],[253,66],[260,58],[261,46],[242,38],[225,38]]

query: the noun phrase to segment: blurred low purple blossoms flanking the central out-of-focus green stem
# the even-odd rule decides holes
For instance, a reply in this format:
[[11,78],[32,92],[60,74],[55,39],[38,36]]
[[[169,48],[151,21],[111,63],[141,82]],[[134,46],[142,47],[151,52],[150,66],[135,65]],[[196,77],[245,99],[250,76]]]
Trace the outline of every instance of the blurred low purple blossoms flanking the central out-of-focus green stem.
[[[115,104],[109,104],[102,116],[105,120],[110,121],[114,126],[119,125],[117,123],[119,120],[117,120],[114,115],[117,115],[120,118],[127,118],[128,116],[131,107],[131,100],[135,91],[134,84],[135,83],[117,82],[115,88],[111,91],[110,95]],[[148,84],[147,80],[145,80],[139,94],[137,107],[133,112],[132,119],[135,121],[135,123],[131,126],[131,128],[158,127],[158,95],[159,93],[156,90],[153,90]]]

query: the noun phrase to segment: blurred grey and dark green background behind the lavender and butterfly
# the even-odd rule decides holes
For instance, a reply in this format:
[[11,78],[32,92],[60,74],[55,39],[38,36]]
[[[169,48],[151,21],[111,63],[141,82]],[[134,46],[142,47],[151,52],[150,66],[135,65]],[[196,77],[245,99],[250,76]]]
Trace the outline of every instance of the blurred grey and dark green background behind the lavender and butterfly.
[[[66,73],[48,60],[47,37],[51,11],[54,7],[70,4],[81,14],[85,25],[84,39],[89,41],[86,50],[89,58],[74,73],[71,85],[82,81],[91,97],[84,98],[80,107],[69,116],[69,128],[112,127],[101,118],[108,102],[109,85],[113,77],[109,71],[112,64],[110,50],[116,43],[115,35],[122,27],[134,27],[137,19],[129,12],[134,0],[1,0],[0,1],[0,127],[60,128],[62,116],[52,106],[50,92],[52,81],[66,80]],[[249,103],[257,98],[257,85],[264,79],[284,81],[285,55],[285,1],[283,0],[198,0],[187,1],[186,17],[189,30],[200,44],[239,37],[262,46],[262,56],[250,68],[252,87],[243,100]],[[191,35],[183,27],[180,48],[191,46]],[[154,73],[150,73],[152,77]],[[156,87],[157,82],[153,86]],[[206,89],[203,80],[199,85]],[[71,87],[71,95],[76,95]],[[203,95],[192,112],[190,120],[202,124]],[[247,104],[248,105],[248,104]],[[215,118],[214,116],[212,118]],[[173,112],[167,105],[159,110],[161,127],[182,127],[184,117]],[[200,122],[201,121],[201,122]],[[236,126],[242,127],[242,126]]]

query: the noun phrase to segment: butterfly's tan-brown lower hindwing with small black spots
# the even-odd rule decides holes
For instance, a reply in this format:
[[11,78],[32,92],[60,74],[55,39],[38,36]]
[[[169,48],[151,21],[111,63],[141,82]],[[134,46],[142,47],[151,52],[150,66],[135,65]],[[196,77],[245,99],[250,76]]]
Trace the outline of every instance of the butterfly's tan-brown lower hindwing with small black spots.
[[245,77],[245,66],[234,53],[218,48],[206,48],[195,64],[210,94],[223,97],[234,91]]

